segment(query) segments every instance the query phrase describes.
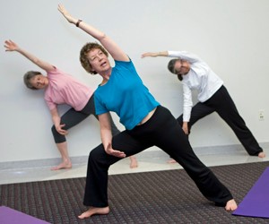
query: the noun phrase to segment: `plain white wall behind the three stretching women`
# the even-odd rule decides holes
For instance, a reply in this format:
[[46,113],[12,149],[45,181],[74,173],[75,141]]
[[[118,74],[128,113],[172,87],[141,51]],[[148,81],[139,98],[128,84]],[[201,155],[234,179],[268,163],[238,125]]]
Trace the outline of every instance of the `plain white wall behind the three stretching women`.
[[[182,88],[166,69],[169,58],[140,56],[166,49],[199,55],[224,80],[257,141],[269,142],[268,0],[63,0],[62,4],[115,39],[155,98],[174,116],[182,112]],[[100,82],[78,60],[82,45],[93,39],[65,21],[56,1],[1,0],[0,18],[2,46],[5,39],[13,39],[91,88]],[[0,58],[0,162],[58,158],[43,92],[28,90],[22,82],[23,73],[39,68],[17,53],[4,52],[4,47]],[[61,112],[66,109],[60,107]],[[265,110],[265,121],[258,120],[259,109]],[[67,139],[70,156],[88,155],[100,143],[98,122],[87,118],[69,131]],[[215,114],[194,126],[190,140],[194,147],[239,144]]]

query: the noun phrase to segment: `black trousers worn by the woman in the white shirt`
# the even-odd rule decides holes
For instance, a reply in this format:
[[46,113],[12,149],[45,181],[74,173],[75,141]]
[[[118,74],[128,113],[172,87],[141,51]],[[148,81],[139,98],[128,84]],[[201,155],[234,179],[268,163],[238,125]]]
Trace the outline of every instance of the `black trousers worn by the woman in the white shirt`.
[[[192,108],[190,121],[188,122],[189,131],[196,121],[213,112],[217,112],[227,125],[230,126],[249,155],[257,156],[263,151],[254,135],[248,129],[245,121],[239,115],[235,103],[224,86],[221,86],[210,99],[206,100],[204,103],[198,102]],[[183,115],[179,116],[177,120],[179,125],[182,126]]]

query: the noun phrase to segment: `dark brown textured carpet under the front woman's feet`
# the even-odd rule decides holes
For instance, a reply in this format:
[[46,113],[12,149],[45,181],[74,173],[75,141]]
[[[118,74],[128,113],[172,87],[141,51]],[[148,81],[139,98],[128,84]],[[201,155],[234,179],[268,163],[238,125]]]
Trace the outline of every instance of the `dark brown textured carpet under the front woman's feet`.
[[[241,202],[269,161],[211,168]],[[50,223],[269,223],[215,207],[182,169],[109,177],[110,213],[79,220],[85,178],[0,185],[0,205]]]

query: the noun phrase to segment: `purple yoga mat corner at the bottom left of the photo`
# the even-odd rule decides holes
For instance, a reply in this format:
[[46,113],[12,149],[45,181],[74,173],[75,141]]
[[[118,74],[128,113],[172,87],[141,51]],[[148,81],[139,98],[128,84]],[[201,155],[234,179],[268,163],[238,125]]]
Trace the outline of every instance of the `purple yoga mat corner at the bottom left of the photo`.
[[49,224],[47,221],[39,220],[21,211],[0,206],[0,223],[2,224]]

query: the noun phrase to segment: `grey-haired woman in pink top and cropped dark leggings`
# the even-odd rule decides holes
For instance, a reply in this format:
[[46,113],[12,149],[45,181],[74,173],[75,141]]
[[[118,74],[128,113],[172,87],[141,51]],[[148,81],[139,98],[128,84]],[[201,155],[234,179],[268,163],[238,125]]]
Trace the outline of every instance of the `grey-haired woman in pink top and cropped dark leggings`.
[[[47,72],[47,76],[34,71],[25,73],[23,77],[24,83],[31,90],[45,90],[44,99],[46,100],[54,123],[51,128],[52,134],[57,149],[62,156],[62,162],[51,169],[72,168],[72,162],[68,156],[65,134],[67,134],[69,128],[79,124],[87,116],[93,115],[98,119],[98,116],[95,115],[94,98],[92,97],[93,90],[81,82],[76,81],[71,75],[31,55],[12,40],[6,40],[4,44],[6,51],[19,52],[22,56],[27,57],[32,63]],[[72,108],[66,111],[63,116],[59,116],[57,111],[58,104],[67,104]],[[112,117],[111,124],[112,134],[116,135],[120,133],[117,126],[113,123]],[[136,168],[137,161],[135,157],[132,156],[130,159],[130,168]]]

